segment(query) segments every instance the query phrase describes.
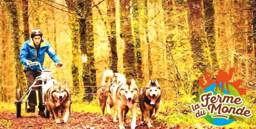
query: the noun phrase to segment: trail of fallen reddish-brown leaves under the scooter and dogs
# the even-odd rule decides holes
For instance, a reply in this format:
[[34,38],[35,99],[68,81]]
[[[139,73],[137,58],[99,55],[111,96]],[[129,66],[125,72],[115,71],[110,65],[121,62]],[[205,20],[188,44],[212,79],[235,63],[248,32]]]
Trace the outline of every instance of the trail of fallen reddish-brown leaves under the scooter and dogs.
[[[56,124],[52,118],[45,118],[37,115],[38,112],[33,114],[24,113],[21,118],[16,118],[15,112],[0,111],[0,119],[5,119],[7,122],[4,125],[0,124],[0,128],[119,128],[119,122],[113,122],[112,120],[103,121],[100,114],[97,113],[84,113],[84,112],[71,112],[67,123]],[[145,125],[140,124],[140,117],[137,117],[136,128],[147,128]],[[131,128],[131,117],[126,117],[126,127]],[[167,128],[164,123],[153,122],[154,127],[151,128]],[[168,127],[169,128],[169,127]],[[174,126],[173,128],[180,128]]]

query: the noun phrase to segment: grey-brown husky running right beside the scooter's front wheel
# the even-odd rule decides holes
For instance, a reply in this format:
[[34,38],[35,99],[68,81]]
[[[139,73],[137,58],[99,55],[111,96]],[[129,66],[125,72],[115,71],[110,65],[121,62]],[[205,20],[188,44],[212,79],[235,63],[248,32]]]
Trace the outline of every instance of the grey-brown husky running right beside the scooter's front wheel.
[[46,107],[56,123],[61,123],[58,117],[58,110],[61,110],[63,121],[67,122],[67,118],[70,115],[70,96],[71,92],[67,88],[66,81],[64,83],[53,81],[53,86],[46,91]]

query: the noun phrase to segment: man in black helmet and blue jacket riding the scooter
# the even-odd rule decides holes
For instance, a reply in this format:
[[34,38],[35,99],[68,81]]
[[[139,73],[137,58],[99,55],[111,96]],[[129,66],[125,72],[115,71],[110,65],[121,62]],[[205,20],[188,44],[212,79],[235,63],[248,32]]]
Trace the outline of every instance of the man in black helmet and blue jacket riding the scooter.
[[[24,65],[24,73],[28,81],[28,88],[33,84],[36,77],[40,76],[40,67],[29,66],[32,62],[38,61],[41,63],[42,69],[44,69],[44,60],[45,60],[45,52],[49,55],[49,57],[56,63],[58,63],[59,67],[62,67],[63,63],[59,60],[57,54],[50,47],[50,44],[42,39],[42,32],[39,29],[33,29],[31,32],[31,39],[25,41],[21,52],[20,52],[20,61]],[[41,83],[41,82],[40,82]],[[44,116],[45,107],[42,105],[42,94],[41,90],[38,91],[38,99],[39,99],[39,112],[38,115]],[[35,107],[37,106],[37,95],[36,91],[32,90],[29,97],[29,108],[27,110],[28,113],[35,113]]]

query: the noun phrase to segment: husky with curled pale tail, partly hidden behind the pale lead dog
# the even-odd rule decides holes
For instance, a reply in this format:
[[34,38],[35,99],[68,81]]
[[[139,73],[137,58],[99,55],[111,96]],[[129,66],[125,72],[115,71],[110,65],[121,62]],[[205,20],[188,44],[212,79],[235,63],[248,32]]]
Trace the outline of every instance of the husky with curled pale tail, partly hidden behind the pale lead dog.
[[[111,79],[113,79],[112,82],[111,82]],[[109,87],[102,87],[98,90],[99,93],[101,93],[101,95],[103,95],[103,96],[100,95],[98,98],[98,102],[99,102],[99,105],[100,105],[100,108],[102,111],[102,115],[103,115],[103,121],[106,121],[106,117],[105,117],[105,107],[106,106],[107,106],[107,112],[108,112],[107,114],[109,115],[109,117],[113,118],[113,116],[111,115],[111,111],[110,111],[110,108],[112,108],[114,106],[113,98],[112,98],[113,89],[115,86],[118,87],[119,84],[125,83],[125,82],[126,82],[126,79],[122,74],[114,73],[112,70],[104,71],[103,79],[102,79],[102,86],[109,86]],[[116,118],[114,119],[114,122],[116,122]]]

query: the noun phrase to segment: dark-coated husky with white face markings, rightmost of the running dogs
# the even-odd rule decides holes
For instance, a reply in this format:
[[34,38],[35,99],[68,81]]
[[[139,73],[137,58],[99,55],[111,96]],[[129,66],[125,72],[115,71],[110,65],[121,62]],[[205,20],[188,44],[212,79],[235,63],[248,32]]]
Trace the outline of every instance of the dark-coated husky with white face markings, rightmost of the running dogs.
[[152,119],[156,119],[159,113],[159,107],[161,106],[161,87],[158,84],[157,80],[152,82],[149,81],[149,84],[146,87],[140,87],[139,94],[139,105],[142,113],[141,121],[144,121],[146,118],[146,124],[148,127],[151,127],[151,117],[153,110],[155,109],[155,115]]

